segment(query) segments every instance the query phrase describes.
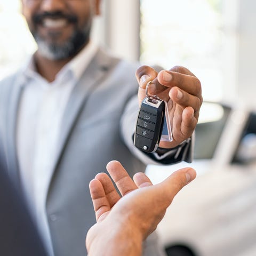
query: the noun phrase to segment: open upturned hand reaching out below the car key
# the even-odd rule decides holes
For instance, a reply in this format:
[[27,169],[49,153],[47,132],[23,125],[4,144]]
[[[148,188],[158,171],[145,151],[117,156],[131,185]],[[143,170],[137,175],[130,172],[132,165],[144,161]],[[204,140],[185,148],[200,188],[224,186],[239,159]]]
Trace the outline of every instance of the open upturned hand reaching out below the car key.
[[173,197],[195,179],[196,172],[184,168],[152,186],[144,173],[136,173],[133,181],[117,161],[109,162],[107,170],[123,197],[106,173],[90,182],[97,224],[87,233],[87,250],[90,256],[141,255],[142,241],[156,229]]

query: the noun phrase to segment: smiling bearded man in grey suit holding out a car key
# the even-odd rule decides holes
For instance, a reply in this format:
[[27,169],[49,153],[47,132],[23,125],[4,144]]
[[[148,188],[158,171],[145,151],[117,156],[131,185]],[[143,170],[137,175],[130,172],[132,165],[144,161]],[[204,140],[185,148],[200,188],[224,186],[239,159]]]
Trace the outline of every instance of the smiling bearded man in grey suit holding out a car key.
[[[7,165],[24,190],[49,255],[82,256],[83,237],[94,223],[89,181],[111,159],[122,162],[131,176],[148,163],[190,161],[201,85],[185,68],[157,73],[142,66],[137,97],[138,65],[113,58],[90,41],[100,0],[23,0],[22,10],[38,51],[0,84]],[[149,93],[168,101],[173,141],[145,154],[134,147],[132,136],[151,80]],[[152,244],[145,253],[160,252]]]

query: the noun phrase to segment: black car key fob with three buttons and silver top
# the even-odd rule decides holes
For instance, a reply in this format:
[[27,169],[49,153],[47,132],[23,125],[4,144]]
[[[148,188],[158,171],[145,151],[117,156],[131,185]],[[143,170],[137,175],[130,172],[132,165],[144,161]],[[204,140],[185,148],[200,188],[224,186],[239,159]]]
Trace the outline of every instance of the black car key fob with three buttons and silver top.
[[147,153],[156,151],[162,135],[164,113],[164,101],[151,97],[143,99],[135,128],[135,147]]

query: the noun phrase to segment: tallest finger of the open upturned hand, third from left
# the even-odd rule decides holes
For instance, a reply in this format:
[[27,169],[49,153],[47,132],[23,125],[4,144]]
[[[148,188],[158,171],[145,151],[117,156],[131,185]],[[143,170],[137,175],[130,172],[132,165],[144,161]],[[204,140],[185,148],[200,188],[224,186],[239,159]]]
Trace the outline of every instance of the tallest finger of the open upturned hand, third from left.
[[137,186],[125,171],[124,167],[118,161],[111,161],[107,164],[107,170],[111,178],[116,183],[122,196],[126,195],[130,191],[137,189]]

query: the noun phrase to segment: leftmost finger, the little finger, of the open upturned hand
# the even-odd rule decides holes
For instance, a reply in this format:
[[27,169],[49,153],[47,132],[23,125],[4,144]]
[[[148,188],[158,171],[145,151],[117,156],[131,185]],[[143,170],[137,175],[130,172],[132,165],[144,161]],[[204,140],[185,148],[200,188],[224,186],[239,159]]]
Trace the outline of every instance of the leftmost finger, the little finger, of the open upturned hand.
[[89,183],[90,194],[95,211],[95,217],[98,222],[102,214],[110,211],[110,205],[106,197],[105,191],[99,180],[91,180]]

